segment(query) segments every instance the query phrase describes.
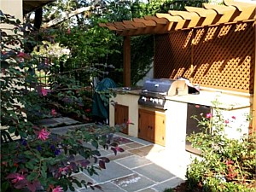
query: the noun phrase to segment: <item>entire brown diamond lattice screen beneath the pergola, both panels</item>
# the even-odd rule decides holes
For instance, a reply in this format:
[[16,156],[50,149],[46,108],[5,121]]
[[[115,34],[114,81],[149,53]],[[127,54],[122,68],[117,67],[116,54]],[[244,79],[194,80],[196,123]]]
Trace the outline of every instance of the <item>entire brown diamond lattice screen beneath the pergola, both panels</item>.
[[251,22],[158,36],[154,77],[253,93],[254,44]]

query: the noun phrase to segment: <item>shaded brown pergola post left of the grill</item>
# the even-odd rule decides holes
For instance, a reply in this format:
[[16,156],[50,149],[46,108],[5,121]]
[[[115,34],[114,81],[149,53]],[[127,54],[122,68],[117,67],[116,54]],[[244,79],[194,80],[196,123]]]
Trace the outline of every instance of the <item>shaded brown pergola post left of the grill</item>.
[[124,86],[131,86],[131,37],[124,37]]

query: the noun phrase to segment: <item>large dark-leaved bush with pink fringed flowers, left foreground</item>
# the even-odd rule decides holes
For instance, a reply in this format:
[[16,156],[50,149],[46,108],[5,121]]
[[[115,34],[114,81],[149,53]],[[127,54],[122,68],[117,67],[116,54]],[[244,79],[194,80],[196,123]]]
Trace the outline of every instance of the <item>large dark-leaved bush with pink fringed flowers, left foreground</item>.
[[[36,124],[36,119],[55,117],[58,108],[65,110],[70,107],[60,107],[50,96],[59,94],[61,99],[70,99],[77,106],[82,105],[82,98],[73,95],[73,90],[49,90],[38,80],[37,71],[47,68],[48,64],[23,52],[27,42],[41,44],[35,40],[31,25],[22,25],[11,15],[1,15],[0,32],[1,191],[62,192],[74,190],[74,184],[97,187],[79,181],[73,173],[88,172],[92,175],[105,169],[109,160],[102,157],[99,149],[102,146],[113,150],[114,154],[123,151],[112,139],[119,127],[92,124],[60,135]],[[47,32],[41,35],[47,36]],[[79,89],[72,83],[66,85],[67,88]],[[78,111],[78,108],[74,110]],[[89,143],[91,148],[84,147],[84,143]]]

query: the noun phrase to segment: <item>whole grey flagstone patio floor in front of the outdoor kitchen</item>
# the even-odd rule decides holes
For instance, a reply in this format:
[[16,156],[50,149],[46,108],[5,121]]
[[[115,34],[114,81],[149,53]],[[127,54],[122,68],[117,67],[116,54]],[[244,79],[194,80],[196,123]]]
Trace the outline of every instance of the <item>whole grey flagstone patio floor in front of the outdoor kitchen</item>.
[[[49,127],[51,132],[59,135],[86,126],[69,118],[44,119],[42,123]],[[79,180],[100,185],[102,190],[75,186],[76,192],[162,192],[183,182],[183,179],[169,172],[169,169],[167,171],[155,164],[155,158],[166,158],[162,155],[165,148],[123,133],[115,133],[113,141],[119,143],[119,147],[124,148],[125,152],[118,152],[115,155],[110,149],[100,148],[102,156],[111,160],[106,164],[106,170],[98,170],[99,175],[93,176],[90,176],[86,170],[74,174]],[[92,148],[88,143],[84,143],[84,147]],[[76,160],[79,158],[83,159],[77,155]]]

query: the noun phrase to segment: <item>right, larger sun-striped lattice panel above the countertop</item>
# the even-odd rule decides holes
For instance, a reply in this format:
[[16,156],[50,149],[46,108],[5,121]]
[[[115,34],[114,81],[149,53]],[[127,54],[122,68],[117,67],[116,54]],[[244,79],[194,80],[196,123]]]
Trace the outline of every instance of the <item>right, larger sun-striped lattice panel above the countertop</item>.
[[199,44],[194,45],[195,69],[189,79],[212,88],[252,90],[253,79],[250,77],[255,59],[253,25],[212,26],[204,36]]

